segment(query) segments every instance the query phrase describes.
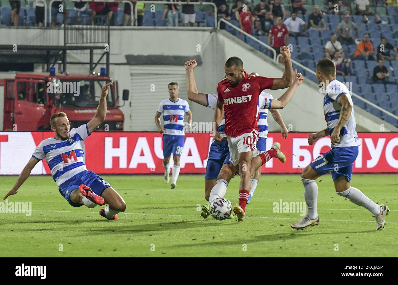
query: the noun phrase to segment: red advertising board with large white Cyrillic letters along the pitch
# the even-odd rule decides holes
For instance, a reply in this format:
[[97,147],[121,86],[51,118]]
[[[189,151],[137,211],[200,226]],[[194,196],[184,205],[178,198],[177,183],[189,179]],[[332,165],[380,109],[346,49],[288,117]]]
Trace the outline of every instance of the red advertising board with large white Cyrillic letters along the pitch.
[[[53,132],[0,132],[0,175],[19,175],[37,145],[53,136]],[[267,148],[275,141],[281,142],[287,161],[281,163],[277,159],[271,159],[262,167],[262,172],[301,173],[301,169],[320,153],[330,150],[330,138],[322,138],[314,145],[308,145],[307,136],[308,133],[289,133],[288,138],[282,140],[280,133],[269,133]],[[398,171],[398,133],[359,133],[358,136],[361,146],[353,172]],[[185,135],[180,161],[181,173],[205,173],[211,141],[211,134]],[[94,132],[86,138],[86,146],[84,151],[87,168],[96,173],[164,173],[162,135],[159,133]],[[51,174],[51,171],[42,160],[31,174]]]

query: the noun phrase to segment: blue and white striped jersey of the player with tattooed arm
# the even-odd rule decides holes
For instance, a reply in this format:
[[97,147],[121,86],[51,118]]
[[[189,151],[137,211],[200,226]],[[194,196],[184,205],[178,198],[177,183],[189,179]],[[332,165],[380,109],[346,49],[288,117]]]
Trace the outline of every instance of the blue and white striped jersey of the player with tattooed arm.
[[[330,81],[328,86],[326,86],[326,96],[324,98],[324,113],[325,120],[328,123],[329,134],[331,135],[334,128],[336,127],[339,116],[341,105],[337,103],[337,100],[341,94],[347,94],[349,102],[352,104],[351,94],[348,88],[334,79]],[[340,142],[332,144],[333,147],[348,147],[360,145],[358,135],[357,135],[357,124],[355,123],[354,108],[352,109],[351,116],[345,123],[340,132]]]

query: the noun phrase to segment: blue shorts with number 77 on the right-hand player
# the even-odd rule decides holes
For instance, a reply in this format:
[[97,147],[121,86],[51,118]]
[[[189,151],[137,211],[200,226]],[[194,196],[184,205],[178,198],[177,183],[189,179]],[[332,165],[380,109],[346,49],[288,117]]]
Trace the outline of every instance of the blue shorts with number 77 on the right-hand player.
[[332,179],[336,180],[339,175],[351,181],[352,165],[358,156],[358,146],[335,147],[329,152],[323,153],[311,162],[312,169],[320,175],[332,171]]

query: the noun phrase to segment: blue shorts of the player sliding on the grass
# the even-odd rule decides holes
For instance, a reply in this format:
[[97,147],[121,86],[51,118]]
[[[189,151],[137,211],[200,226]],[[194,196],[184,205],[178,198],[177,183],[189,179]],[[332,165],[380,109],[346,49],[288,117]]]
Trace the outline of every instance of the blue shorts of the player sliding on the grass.
[[64,197],[69,204],[74,207],[82,206],[82,204],[77,204],[70,200],[70,193],[72,193],[74,189],[79,189],[80,184],[87,185],[94,193],[99,196],[102,195],[105,189],[111,187],[107,181],[103,180],[92,171],[85,170],[76,174],[74,177],[66,180],[59,186],[59,193],[61,193],[62,197]]

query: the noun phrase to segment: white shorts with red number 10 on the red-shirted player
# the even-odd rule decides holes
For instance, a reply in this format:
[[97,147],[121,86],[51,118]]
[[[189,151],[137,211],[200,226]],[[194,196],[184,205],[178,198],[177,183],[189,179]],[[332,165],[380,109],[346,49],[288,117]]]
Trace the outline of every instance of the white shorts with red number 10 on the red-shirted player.
[[250,133],[242,134],[237,137],[227,136],[230,161],[234,166],[238,165],[238,155],[242,152],[253,151],[253,157],[259,155],[256,147],[258,141],[258,131],[253,130]]

